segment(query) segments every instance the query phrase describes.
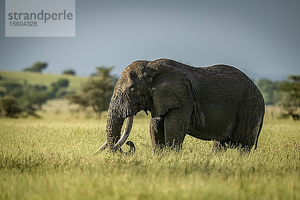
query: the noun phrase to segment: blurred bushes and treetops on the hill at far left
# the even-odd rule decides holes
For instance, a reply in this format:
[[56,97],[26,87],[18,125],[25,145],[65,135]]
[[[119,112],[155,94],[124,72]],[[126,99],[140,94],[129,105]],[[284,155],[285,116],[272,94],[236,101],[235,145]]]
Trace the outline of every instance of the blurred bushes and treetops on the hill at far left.
[[[46,62],[37,61],[22,71],[41,73],[46,67]],[[75,71],[65,69],[62,74],[74,75]],[[60,78],[52,82],[49,88],[42,84],[28,84],[26,79],[23,83],[17,83],[12,80],[4,80],[4,77],[0,75],[0,80],[0,87],[4,88],[0,91],[0,115],[8,117],[28,115],[38,117],[35,111],[40,110],[48,99],[61,98],[71,93],[64,90],[69,84],[67,78]]]

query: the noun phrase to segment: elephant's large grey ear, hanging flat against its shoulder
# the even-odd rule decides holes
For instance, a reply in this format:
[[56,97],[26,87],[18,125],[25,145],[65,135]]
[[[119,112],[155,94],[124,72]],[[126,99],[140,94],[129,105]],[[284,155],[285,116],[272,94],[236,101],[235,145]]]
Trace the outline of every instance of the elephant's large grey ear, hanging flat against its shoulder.
[[190,80],[183,71],[165,64],[158,65],[155,67],[157,73],[152,78],[150,90],[151,117],[185,104],[191,90]]

